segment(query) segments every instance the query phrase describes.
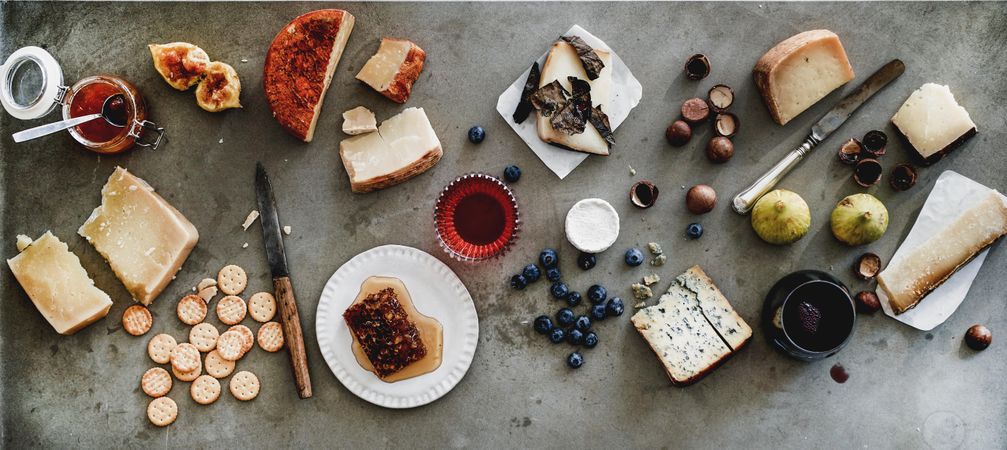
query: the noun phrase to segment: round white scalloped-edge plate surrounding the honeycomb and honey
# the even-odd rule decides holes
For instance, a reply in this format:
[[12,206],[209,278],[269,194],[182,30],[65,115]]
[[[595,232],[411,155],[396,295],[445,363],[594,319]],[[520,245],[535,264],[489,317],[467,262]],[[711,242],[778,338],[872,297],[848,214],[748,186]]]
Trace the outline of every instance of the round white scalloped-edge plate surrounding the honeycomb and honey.
[[[440,321],[444,353],[436,370],[385,383],[356,362],[342,313],[364,280],[373,276],[402,280],[416,309]],[[465,285],[444,263],[412,247],[382,246],[353,257],[328,279],[318,301],[315,332],[325,362],[349,392],[385,408],[415,408],[440,399],[465,376],[479,341],[479,319]]]

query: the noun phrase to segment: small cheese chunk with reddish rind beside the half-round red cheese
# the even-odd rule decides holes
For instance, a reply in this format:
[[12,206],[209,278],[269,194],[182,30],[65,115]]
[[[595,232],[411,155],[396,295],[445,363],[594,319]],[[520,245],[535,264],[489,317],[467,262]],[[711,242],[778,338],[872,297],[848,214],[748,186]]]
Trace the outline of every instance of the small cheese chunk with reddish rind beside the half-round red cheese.
[[426,58],[427,53],[413,41],[386,37],[378,52],[356,73],[356,80],[395,103],[406,103]]

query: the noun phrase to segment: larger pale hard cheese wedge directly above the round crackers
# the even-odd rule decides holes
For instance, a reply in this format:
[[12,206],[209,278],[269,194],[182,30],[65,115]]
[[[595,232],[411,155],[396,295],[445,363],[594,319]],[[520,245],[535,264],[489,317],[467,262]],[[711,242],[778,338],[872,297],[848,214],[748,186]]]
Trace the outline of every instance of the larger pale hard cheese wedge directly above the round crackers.
[[116,167],[78,234],[105,257],[133,299],[149,305],[195,247],[195,227],[146,181]]

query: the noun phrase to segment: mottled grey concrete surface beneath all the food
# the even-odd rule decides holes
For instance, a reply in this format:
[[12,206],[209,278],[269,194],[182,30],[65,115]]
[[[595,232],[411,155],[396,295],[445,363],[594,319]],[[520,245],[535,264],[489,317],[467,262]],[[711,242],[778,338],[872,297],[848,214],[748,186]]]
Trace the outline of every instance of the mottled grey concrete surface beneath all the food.
[[[115,298],[109,316],[69,337],[56,335],[35,311],[10,272],[2,272],[0,307],[0,446],[21,447],[664,447],[664,448],[1005,448],[1007,447],[1007,252],[995,246],[959,311],[931,332],[887,317],[861,316],[850,345],[817,363],[792,360],[771,349],[760,330],[752,344],[697,386],[670,386],[654,355],[628,324],[628,314],[598,326],[601,344],[585,351],[586,365],[564,364],[570,351],[536,335],[527,323],[556,308],[546,285],[524,292],[507,286],[509,274],[543,247],[562,255],[566,280],[584,291],[594,283],[628,297],[628,286],[649,273],[627,269],[621,253],[651,241],[670,261],[659,273],[669,280],[702,265],[753,325],[762,296],[778,277],[798,269],[831,271],[853,290],[867,288],[849,273],[864,251],[887,260],[908,232],[938,175],[947,169],[1001,190],[1007,109],[1007,10],[1003,3],[957,4],[363,4],[348,9],[356,26],[329,91],[315,140],[295,141],[273,122],[263,98],[261,70],[273,35],[316,4],[0,4],[0,53],[42,45],[62,63],[69,81],[112,72],[134,82],[167,128],[162,150],[99,157],[56,135],[14,145],[10,134],[42,120],[21,123],[0,116],[3,196],[2,254],[14,255],[17,234],[52,230],[81,256],[98,286]],[[577,23],[605,39],[643,86],[643,100],[617,131],[608,158],[591,157],[560,181],[542,165],[494,111],[496,97],[551,39]],[[845,87],[786,127],[769,121],[751,82],[755,59],[796,32],[829,28],[842,37],[857,82],[893,57],[905,74],[873,99],[839,133],[782,183],[800,192],[813,212],[812,231],[789,247],[758,241],[747,217],[725,201],[702,217],[684,207],[684,190],[704,182],[727,198],[797,145]],[[339,163],[339,113],[366,105],[379,118],[402,107],[353,80],[382,36],[414,39],[428,53],[427,66],[407,106],[424,107],[444,146],[443,160],[428,173],[381,192],[349,192]],[[191,93],[169,89],[152,69],[148,42],[185,40],[214,59],[232,63],[242,78],[245,108],[222,114],[199,110]],[[681,66],[694,52],[713,61],[703,82],[684,79]],[[243,59],[247,59],[244,62]],[[742,122],[736,155],[725,165],[707,162],[707,131],[686,148],[663,138],[681,102],[722,82],[738,95],[733,111]],[[849,136],[881,128],[902,100],[924,82],[949,84],[979,124],[979,135],[939,164],[922,169],[904,193],[886,184],[861,189],[835,160]],[[56,118],[53,114],[45,121]],[[475,146],[465,130],[486,128]],[[223,139],[223,143],[220,141]],[[908,159],[894,143],[886,167]],[[257,372],[262,394],[240,404],[225,393],[200,407],[178,383],[170,396],[180,408],[165,429],[145,418],[148,398],[139,378],[152,365],[147,339],[158,332],[184,338],[174,318],[175,299],[227,263],[244,266],[250,289],[265,289],[268,275],[256,228],[239,227],[254,207],[254,164],[274,179],[283,221],[293,227],[287,250],[305,324],[315,397],[300,401],[285,356],[254,350],[240,362]],[[518,164],[515,185],[524,232],[506,258],[479,266],[449,261],[437,248],[431,211],[437,191],[470,171],[498,174]],[[200,233],[197,248],[177,280],[152,307],[154,328],[144,337],[121,330],[129,297],[100,256],[76,235],[99,201],[116,165],[148,180]],[[638,173],[630,177],[627,165]],[[663,193],[649,210],[627,200],[630,183],[655,180]],[[891,212],[889,232],[860,249],[831,236],[828,216],[844,195],[869,191]],[[582,272],[565,242],[566,209],[586,196],[608,199],[623,232],[598,267]],[[949,211],[952,212],[952,211]],[[687,241],[687,223],[702,221],[706,235]],[[242,249],[243,243],[248,249]],[[450,265],[475,299],[480,342],[471,369],[440,401],[411,411],[374,407],[350,393],[325,366],[315,341],[315,306],[331,273],[357,253],[382,244],[423,249]],[[667,281],[660,289],[667,287]],[[215,320],[215,318],[213,319]],[[250,320],[248,322],[251,322]],[[993,329],[982,353],[962,336],[976,322]],[[839,385],[829,368],[851,373]]]

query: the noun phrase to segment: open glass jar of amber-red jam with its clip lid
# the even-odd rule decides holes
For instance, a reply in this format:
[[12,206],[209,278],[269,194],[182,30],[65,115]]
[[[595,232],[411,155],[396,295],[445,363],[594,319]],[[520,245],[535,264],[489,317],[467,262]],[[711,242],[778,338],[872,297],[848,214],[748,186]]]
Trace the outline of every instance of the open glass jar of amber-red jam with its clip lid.
[[62,107],[63,120],[100,114],[108,101],[106,117],[67,129],[88,150],[112,154],[133,146],[156,149],[164,129],[147,120],[143,97],[129,82],[114,76],[95,76],[73,87],[62,84],[55,58],[39,47],[16,50],[0,65],[0,104],[11,116],[31,120]]

